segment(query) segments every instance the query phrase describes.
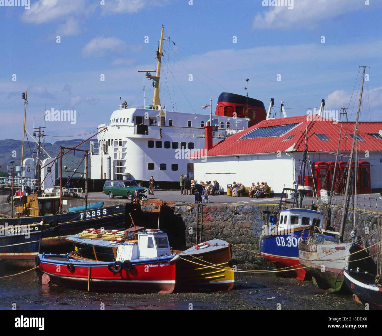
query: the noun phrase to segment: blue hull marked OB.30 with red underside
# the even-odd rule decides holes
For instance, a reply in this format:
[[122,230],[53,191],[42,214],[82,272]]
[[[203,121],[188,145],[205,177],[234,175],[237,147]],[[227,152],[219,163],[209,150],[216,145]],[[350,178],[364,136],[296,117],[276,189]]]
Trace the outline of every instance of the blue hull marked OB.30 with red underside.
[[291,234],[261,235],[261,255],[269,262],[275,263],[277,267],[285,268],[280,275],[294,276],[298,280],[310,279],[310,275],[304,268],[301,268],[299,262],[298,243],[300,239],[301,230],[292,231]]

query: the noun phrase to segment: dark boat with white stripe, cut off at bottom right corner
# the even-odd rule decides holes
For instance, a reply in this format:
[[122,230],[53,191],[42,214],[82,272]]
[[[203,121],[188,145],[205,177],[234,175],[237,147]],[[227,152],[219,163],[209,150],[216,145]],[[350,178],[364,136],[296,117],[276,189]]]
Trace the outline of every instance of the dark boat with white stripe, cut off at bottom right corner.
[[356,270],[345,270],[345,281],[362,305],[369,304],[371,308],[382,309],[382,284],[376,284],[376,276],[371,273]]

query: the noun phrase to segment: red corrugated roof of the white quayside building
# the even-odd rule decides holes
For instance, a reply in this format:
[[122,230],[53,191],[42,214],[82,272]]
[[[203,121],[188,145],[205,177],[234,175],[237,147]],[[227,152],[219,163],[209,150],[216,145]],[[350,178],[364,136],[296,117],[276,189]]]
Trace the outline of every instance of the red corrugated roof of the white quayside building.
[[[332,120],[317,118],[317,115],[316,118],[311,119],[313,120],[307,121],[307,116],[305,115],[261,121],[257,125],[252,126],[245,131],[241,131],[238,134],[230,136],[227,139],[214,144],[214,146],[207,151],[207,156],[277,153],[278,151],[285,152],[287,149],[291,151],[292,146],[295,150],[302,152],[305,149],[304,137],[307,127],[308,136],[313,133],[325,134],[330,139],[330,141],[321,141],[316,135],[311,136],[308,140],[309,152],[337,151],[341,123],[334,123]],[[240,139],[244,136],[244,134],[251,132],[253,129],[285,124],[299,125],[291,129],[283,136]],[[377,134],[380,129],[382,129],[382,121],[359,122],[358,134],[364,139],[364,141],[357,142],[357,150],[382,151],[382,140],[368,135],[368,133]],[[354,122],[344,122],[341,136],[342,139],[340,142],[340,151],[351,150],[353,139],[350,135],[353,135],[353,132]],[[287,141],[283,141],[292,134],[295,134],[295,136]],[[197,153],[194,154],[194,157],[196,156]]]

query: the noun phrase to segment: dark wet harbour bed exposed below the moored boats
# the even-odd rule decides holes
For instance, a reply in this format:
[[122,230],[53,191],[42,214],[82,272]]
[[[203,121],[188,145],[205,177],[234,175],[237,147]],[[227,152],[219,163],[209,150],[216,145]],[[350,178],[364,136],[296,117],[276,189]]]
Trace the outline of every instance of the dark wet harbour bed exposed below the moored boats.
[[[11,272],[15,273],[15,271]],[[10,274],[8,272],[8,274]],[[3,273],[2,275],[6,275]],[[41,284],[36,269],[0,279],[0,309],[352,309],[363,310],[351,295],[329,294],[310,281],[274,275],[236,273],[232,291],[173,294],[86,292]]]

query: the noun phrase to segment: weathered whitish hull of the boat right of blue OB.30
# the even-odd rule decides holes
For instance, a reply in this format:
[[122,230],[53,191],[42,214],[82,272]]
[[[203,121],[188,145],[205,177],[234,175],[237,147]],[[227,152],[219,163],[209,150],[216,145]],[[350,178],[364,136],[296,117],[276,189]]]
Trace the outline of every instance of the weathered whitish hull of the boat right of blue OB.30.
[[318,287],[331,292],[346,291],[343,270],[348,266],[350,244],[299,244],[299,261]]

